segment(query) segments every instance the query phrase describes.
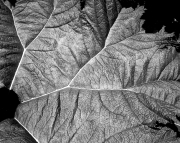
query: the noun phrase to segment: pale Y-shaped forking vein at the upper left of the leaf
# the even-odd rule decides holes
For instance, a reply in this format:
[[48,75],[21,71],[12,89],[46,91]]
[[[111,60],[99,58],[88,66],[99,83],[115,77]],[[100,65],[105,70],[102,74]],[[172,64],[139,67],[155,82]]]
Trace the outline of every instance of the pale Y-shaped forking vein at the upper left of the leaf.
[[[53,12],[54,12],[54,10],[55,10],[56,8],[55,8],[55,6],[54,6],[54,9],[53,9],[53,11],[52,11],[52,13],[51,13],[51,15],[49,16],[49,18],[48,18],[48,20],[47,20],[47,22],[44,24],[44,27],[41,29],[41,31],[39,32],[39,34],[34,38],[34,40],[36,40],[37,39],[37,37],[42,33],[42,31],[44,30],[44,28],[45,28],[45,26],[47,25],[47,23],[49,22],[49,20],[51,19],[51,17],[52,17],[52,14],[53,14]],[[10,9],[11,10],[11,9]],[[21,45],[22,45],[22,41],[21,41],[21,39],[20,39],[20,37],[19,37],[19,35],[18,35],[18,32],[17,32],[17,27],[16,27],[16,25],[15,25],[15,18],[14,18],[14,15],[13,15],[13,12],[12,12],[12,10],[11,10],[11,13],[12,13],[12,17],[13,17],[13,22],[14,22],[14,26],[15,26],[15,29],[16,29],[16,33],[17,33],[17,36],[18,36],[18,38],[19,38],[19,40],[20,40],[20,42],[21,42]],[[33,41],[34,41],[33,40]],[[33,42],[33,41],[31,41],[31,43]],[[31,43],[29,44],[29,45],[31,45]],[[24,51],[23,51],[23,54],[22,54],[22,57],[21,57],[21,60],[20,60],[20,62],[19,62],[19,65],[18,65],[18,67],[17,67],[17,69],[16,69],[16,72],[15,72],[15,74],[14,74],[14,77],[13,77],[13,80],[12,80],[12,82],[11,82],[11,86],[10,86],[10,90],[12,89],[12,86],[13,86],[13,84],[14,84],[14,81],[15,81],[15,78],[16,78],[16,75],[17,75],[17,73],[18,73],[18,71],[19,71],[19,68],[20,68],[20,66],[21,66],[21,63],[22,63],[22,59],[23,59],[23,57],[24,57],[24,54],[25,54],[25,51],[26,51],[26,49],[29,47],[29,45],[25,48],[23,45],[23,48],[24,48]]]

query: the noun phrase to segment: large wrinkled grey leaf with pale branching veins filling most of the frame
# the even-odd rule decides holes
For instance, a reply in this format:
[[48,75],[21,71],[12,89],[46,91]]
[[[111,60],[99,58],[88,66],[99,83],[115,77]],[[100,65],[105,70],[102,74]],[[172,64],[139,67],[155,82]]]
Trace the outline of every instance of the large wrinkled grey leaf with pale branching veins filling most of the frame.
[[173,34],[145,33],[143,7],[80,2],[0,2],[0,78],[21,99],[15,120],[39,143],[180,142],[148,126],[180,125],[180,54],[163,48]]

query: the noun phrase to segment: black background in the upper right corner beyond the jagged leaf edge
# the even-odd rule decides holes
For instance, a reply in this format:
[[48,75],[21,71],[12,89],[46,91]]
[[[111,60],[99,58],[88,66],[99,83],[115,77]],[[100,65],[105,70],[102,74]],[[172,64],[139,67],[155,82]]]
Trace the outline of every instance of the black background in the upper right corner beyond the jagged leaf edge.
[[142,16],[145,19],[143,29],[147,33],[156,33],[165,26],[167,32],[174,32],[176,39],[180,33],[179,0],[119,0],[123,7],[136,8],[138,5],[147,9]]

